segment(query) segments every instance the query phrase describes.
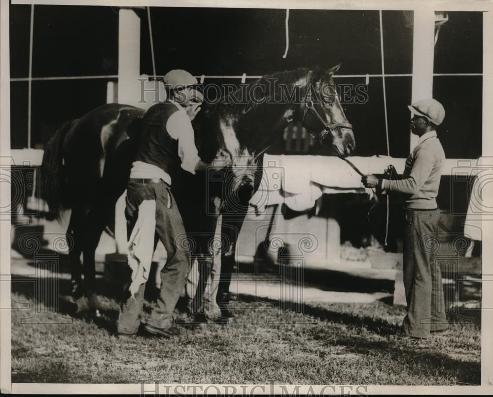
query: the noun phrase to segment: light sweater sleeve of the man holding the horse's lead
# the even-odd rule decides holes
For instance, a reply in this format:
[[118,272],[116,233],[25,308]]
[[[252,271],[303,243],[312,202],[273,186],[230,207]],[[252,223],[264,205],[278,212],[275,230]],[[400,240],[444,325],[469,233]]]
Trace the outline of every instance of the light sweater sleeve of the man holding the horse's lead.
[[428,179],[434,162],[433,155],[430,152],[423,149],[418,150],[409,176],[401,180],[379,180],[382,190],[407,194],[417,193]]

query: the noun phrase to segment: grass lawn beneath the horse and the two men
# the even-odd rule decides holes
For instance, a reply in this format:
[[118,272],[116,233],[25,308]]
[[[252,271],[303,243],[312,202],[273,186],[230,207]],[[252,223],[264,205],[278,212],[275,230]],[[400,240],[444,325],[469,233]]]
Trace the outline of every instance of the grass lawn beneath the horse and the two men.
[[[60,311],[70,313],[68,280],[60,283]],[[33,308],[34,289],[28,284],[14,281],[12,298]],[[304,314],[277,313],[269,309],[274,302],[240,295],[234,304],[237,317],[229,325],[182,328],[178,337],[166,340],[115,336],[118,306],[107,296],[100,299],[101,318],[64,314],[70,324],[21,324],[34,309],[13,310],[12,382],[480,383],[479,310],[462,314],[472,317],[473,324],[454,324],[447,335],[415,343],[394,336],[404,309],[385,302],[320,303],[306,305]],[[45,304],[39,305],[35,320],[56,322]]]

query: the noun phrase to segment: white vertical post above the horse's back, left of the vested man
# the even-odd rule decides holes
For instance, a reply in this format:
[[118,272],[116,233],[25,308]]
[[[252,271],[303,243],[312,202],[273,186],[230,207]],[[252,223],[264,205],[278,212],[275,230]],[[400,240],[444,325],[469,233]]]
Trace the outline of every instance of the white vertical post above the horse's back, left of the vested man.
[[122,8],[118,18],[118,103],[133,105],[140,98],[141,19]]

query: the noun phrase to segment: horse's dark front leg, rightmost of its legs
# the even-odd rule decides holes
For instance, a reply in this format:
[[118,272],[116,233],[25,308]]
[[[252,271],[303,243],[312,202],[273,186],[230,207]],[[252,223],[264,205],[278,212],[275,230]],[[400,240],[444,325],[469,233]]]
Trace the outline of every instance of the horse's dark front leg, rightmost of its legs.
[[236,265],[236,244],[245,216],[246,208],[244,211],[235,212],[233,215],[222,214],[221,236],[228,246],[224,247],[221,252],[221,277],[217,289],[216,301],[221,306],[223,315],[227,317],[232,317],[232,314],[227,310],[225,305],[230,300],[229,289],[231,277]]

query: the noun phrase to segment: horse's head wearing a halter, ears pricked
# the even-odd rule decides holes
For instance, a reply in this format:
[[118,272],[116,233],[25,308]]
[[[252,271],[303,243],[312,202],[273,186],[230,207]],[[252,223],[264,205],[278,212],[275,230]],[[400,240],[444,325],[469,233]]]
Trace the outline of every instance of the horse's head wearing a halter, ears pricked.
[[354,151],[355,142],[332,78],[340,66],[308,72],[306,94],[297,113],[303,127],[320,144],[330,146],[335,155],[346,157]]

